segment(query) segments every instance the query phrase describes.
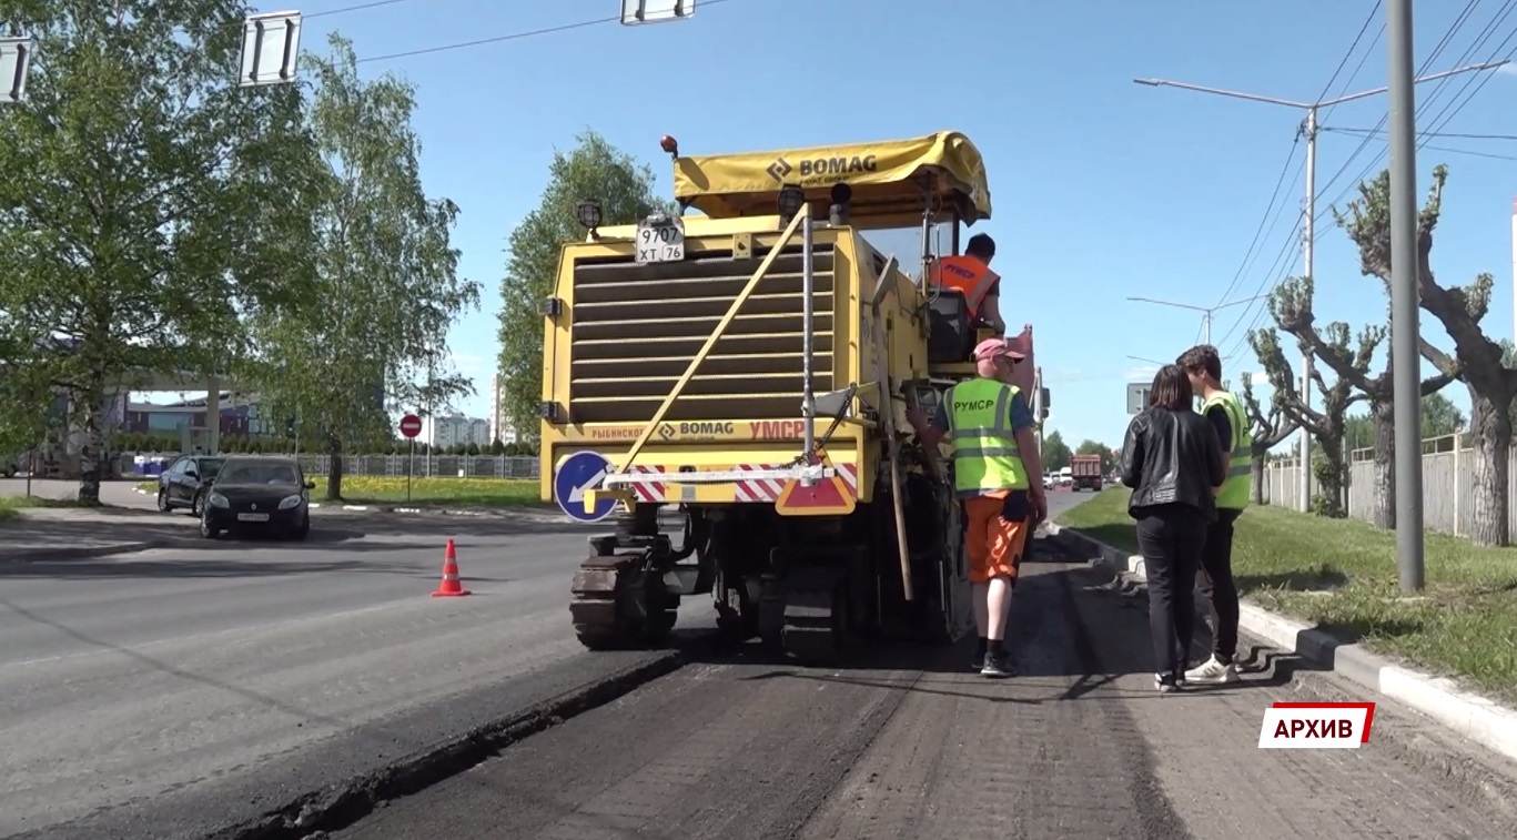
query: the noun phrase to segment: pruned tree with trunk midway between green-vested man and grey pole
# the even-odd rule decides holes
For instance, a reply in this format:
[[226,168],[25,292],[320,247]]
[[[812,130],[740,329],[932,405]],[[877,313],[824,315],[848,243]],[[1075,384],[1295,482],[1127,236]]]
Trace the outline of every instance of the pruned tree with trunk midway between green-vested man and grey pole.
[[[1294,332],[1292,326],[1302,329],[1299,321],[1300,312],[1311,312],[1311,279],[1294,277],[1276,287],[1270,296],[1270,314],[1274,315],[1280,328]],[[1309,323],[1308,329],[1311,329]],[[1374,359],[1376,347],[1385,338],[1385,329],[1368,326],[1359,331],[1356,347],[1352,347],[1353,335],[1349,331],[1349,324],[1343,321],[1329,323],[1320,335],[1312,329],[1311,335],[1335,359],[1346,362],[1349,371],[1362,376]],[[1302,352],[1308,352],[1311,347],[1309,340],[1300,338],[1300,334],[1297,334],[1297,338]],[[1344,488],[1349,481],[1349,465],[1343,449],[1344,418],[1349,414],[1349,406],[1365,399],[1364,394],[1353,393],[1350,376],[1338,375],[1333,384],[1329,385],[1321,368],[1314,367],[1311,373],[1312,382],[1321,394],[1321,409],[1314,409],[1306,405],[1300,390],[1296,387],[1296,370],[1280,350],[1279,332],[1274,329],[1250,331],[1248,344],[1253,346],[1255,355],[1259,356],[1259,364],[1264,365],[1270,387],[1274,390],[1271,409],[1277,408],[1292,423],[1311,432],[1317,438],[1317,443],[1321,444],[1323,458],[1315,462],[1312,470],[1312,478],[1317,479],[1318,488],[1317,496],[1312,497],[1312,509],[1327,517],[1346,516],[1347,499],[1344,497]]]

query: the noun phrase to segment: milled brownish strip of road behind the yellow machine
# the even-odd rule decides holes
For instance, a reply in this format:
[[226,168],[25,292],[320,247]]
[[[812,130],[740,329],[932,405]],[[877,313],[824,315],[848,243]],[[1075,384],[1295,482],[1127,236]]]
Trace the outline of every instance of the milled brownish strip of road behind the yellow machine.
[[[1022,675],[968,649],[892,647],[856,669],[693,664],[387,804],[343,840],[1514,837],[1371,743],[1261,751],[1288,681],[1162,696],[1147,614],[1083,566],[1016,594]],[[1382,707],[1376,729],[1396,726]]]

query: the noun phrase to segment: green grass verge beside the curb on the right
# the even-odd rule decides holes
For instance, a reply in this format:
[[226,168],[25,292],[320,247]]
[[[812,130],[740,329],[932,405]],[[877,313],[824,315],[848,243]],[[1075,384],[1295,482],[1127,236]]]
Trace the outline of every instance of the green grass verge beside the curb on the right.
[[[1059,522],[1138,553],[1127,494],[1104,490]],[[1233,576],[1261,606],[1517,701],[1517,549],[1427,534],[1424,556],[1426,597],[1402,599],[1394,534],[1250,505],[1238,520]]]

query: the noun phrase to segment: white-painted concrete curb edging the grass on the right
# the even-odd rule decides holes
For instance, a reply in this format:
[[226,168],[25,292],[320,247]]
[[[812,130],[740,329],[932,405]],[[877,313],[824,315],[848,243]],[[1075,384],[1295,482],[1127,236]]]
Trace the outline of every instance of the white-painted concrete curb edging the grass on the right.
[[[1083,556],[1094,556],[1098,566],[1118,575],[1145,579],[1141,556],[1129,555],[1057,523],[1048,523],[1048,534]],[[1238,623],[1253,635],[1294,650],[1326,670],[1417,710],[1444,728],[1517,761],[1514,710],[1464,691],[1452,679],[1391,664],[1390,660],[1359,644],[1346,644],[1312,625],[1271,613],[1248,600],[1241,603]]]

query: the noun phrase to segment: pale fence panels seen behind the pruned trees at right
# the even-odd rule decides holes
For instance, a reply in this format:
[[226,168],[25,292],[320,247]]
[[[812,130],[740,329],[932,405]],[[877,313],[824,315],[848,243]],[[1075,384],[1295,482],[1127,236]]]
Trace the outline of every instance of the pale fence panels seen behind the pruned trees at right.
[[[1374,519],[1374,450],[1358,449],[1349,464],[1349,516]],[[1468,534],[1475,517],[1475,459],[1468,435],[1446,435],[1423,441],[1423,526],[1444,534]],[[1264,469],[1264,500],[1286,509],[1300,509],[1300,462],[1282,459]],[[1517,499],[1517,452],[1506,493]],[[1315,493],[1315,482],[1312,491]],[[1517,532],[1517,505],[1508,512]]]

